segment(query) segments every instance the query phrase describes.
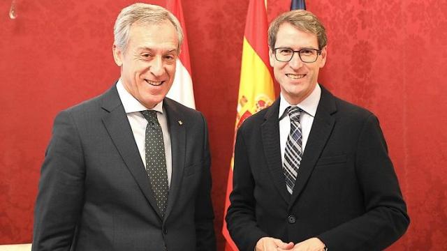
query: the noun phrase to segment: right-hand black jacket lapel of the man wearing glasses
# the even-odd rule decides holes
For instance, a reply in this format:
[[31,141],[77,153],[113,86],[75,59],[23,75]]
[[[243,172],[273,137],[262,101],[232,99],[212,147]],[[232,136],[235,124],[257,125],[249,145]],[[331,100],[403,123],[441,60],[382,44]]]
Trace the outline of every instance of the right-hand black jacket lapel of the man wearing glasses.
[[332,128],[335,124],[335,119],[332,114],[337,111],[335,106],[334,96],[321,86],[321,98],[316,109],[314,123],[312,123],[312,129],[307,139],[305,152],[302,155],[300,169],[298,169],[298,177],[293,188],[293,194],[291,197],[291,203],[289,209],[293,206],[293,203],[298,198],[300,193],[312,174],[318,158],[324,149],[326,142],[328,141]]

